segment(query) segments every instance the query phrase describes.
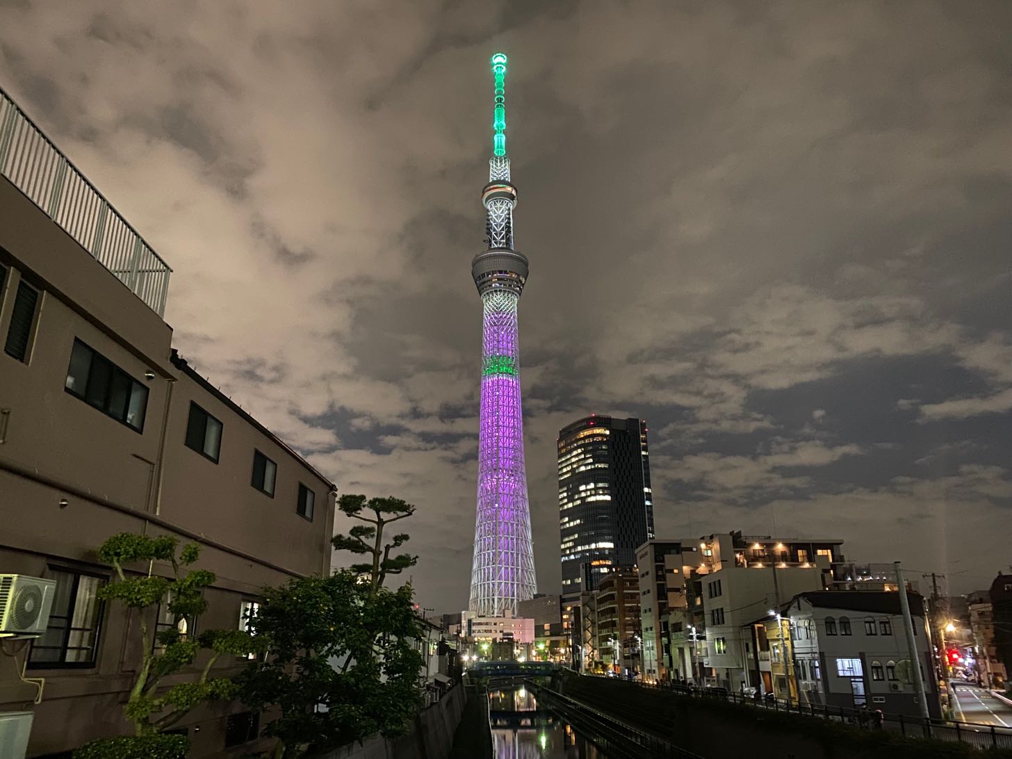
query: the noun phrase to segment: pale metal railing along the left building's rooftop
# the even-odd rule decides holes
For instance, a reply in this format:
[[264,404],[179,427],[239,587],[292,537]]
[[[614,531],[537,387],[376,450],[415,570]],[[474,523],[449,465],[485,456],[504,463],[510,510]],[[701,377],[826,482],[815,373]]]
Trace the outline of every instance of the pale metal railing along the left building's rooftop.
[[2,88],[0,174],[165,316],[172,269]]

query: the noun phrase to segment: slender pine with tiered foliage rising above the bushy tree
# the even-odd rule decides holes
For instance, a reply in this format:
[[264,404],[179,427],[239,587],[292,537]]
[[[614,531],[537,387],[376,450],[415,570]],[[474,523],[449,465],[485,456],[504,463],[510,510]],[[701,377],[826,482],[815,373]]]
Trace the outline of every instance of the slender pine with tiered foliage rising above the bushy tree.
[[[371,562],[353,564],[351,570],[368,575],[372,590],[384,584],[387,575],[399,575],[418,563],[418,557],[410,554],[399,554],[393,558],[390,556],[392,550],[399,549],[408,541],[407,534],[401,532],[394,535],[386,545],[383,541],[384,528],[388,524],[415,513],[412,504],[400,498],[370,498],[366,501],[365,496],[343,495],[338,499],[337,507],[352,519],[365,522],[356,524],[348,530],[347,535],[334,535],[332,542],[337,551],[371,555]],[[367,511],[371,511],[372,516],[362,515]]]

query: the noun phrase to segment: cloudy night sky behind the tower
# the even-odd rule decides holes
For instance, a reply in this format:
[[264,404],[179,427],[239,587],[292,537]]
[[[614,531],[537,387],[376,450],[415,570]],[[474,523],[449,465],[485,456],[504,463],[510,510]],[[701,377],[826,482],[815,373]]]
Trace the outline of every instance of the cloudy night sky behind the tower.
[[467,604],[492,83],[510,56],[527,473],[650,425],[661,536],[1012,563],[1012,3],[0,0],[0,86],[175,269],[201,373]]

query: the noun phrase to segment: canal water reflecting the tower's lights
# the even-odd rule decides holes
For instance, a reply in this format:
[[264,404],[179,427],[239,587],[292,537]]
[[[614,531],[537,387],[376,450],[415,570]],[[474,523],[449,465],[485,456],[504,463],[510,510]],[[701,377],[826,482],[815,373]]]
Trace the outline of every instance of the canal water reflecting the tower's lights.
[[496,759],[608,759],[523,687],[489,691]]

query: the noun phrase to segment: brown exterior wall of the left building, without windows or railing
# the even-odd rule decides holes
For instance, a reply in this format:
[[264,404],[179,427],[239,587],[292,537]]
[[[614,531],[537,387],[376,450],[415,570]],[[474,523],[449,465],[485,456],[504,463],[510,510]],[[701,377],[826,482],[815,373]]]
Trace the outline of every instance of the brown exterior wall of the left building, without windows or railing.
[[[107,579],[111,570],[94,552],[109,535],[194,540],[203,546],[198,566],[218,576],[199,632],[238,627],[243,600],[266,585],[327,571],[333,486],[206,383],[174,366],[168,325],[2,178],[0,247],[0,263],[11,267],[0,336],[7,334],[18,276],[40,296],[26,361],[0,352],[0,410],[9,410],[0,412],[0,572],[52,577],[70,569]],[[75,338],[148,388],[143,429],[65,391]],[[184,445],[190,399],[225,422],[218,465]],[[274,499],[250,485],[254,447],[277,463]],[[316,493],[312,522],[296,513],[298,482]],[[170,574],[157,564],[152,571]],[[33,709],[29,756],[128,732],[122,702],[141,653],[138,619],[118,604],[106,604],[98,619],[92,666],[29,665],[26,676],[45,678],[37,705],[30,706],[35,687],[16,676],[30,644],[5,644],[14,656],[0,662],[0,710],[26,703]],[[220,661],[216,674],[243,664]],[[225,718],[240,710],[215,704],[176,726],[188,730],[191,756],[222,754]]]

